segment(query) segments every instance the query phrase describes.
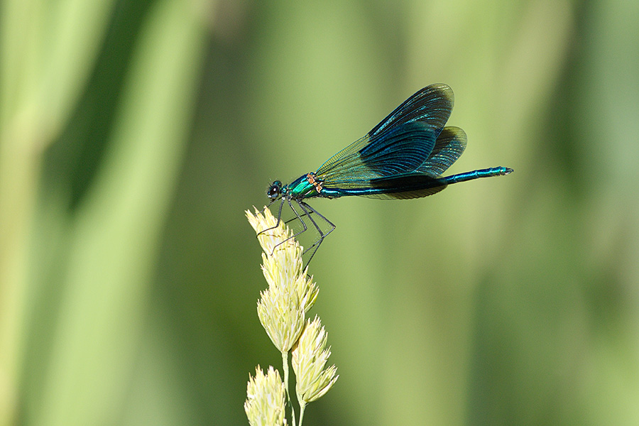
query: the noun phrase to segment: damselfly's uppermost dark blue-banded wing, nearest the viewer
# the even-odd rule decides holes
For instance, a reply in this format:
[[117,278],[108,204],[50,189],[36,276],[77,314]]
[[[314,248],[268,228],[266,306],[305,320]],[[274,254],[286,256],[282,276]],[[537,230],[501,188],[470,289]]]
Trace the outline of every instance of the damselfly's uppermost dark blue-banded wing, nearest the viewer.
[[325,187],[368,187],[376,178],[414,172],[435,148],[450,116],[453,94],[432,84],[413,94],[364,138],[329,158],[317,172]]

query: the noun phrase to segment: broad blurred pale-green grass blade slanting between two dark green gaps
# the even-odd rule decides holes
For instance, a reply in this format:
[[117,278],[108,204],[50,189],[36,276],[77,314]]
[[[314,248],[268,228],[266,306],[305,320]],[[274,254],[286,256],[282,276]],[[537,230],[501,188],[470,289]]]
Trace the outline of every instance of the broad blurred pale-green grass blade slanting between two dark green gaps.
[[72,230],[35,424],[99,424],[125,402],[200,70],[205,31],[192,6],[159,1],[141,32],[109,152]]

